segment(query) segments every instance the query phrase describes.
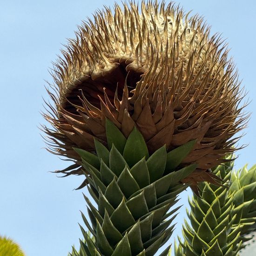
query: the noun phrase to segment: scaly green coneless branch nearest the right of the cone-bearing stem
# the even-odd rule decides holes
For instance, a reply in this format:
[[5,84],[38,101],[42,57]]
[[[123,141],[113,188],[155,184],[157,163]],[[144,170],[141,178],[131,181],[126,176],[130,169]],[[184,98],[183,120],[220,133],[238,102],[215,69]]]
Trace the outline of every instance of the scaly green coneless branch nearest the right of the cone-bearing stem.
[[[227,156],[231,159],[232,155]],[[213,172],[223,180],[222,186],[202,182],[200,196],[189,200],[190,225],[184,222],[182,239],[175,243],[175,256],[236,256],[242,248],[243,209],[248,202],[236,205],[243,189],[230,190],[233,162],[218,166]],[[232,186],[232,185],[231,185]]]

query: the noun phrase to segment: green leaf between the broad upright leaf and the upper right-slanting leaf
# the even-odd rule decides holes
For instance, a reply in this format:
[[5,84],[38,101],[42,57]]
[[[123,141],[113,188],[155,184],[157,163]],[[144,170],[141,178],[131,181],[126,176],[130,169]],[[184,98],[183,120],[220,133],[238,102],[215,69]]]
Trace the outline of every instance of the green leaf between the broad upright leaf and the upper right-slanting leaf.
[[166,156],[167,152],[164,145],[162,148],[157,149],[154,154],[150,155],[148,158],[147,166],[151,183],[162,177],[166,166]]

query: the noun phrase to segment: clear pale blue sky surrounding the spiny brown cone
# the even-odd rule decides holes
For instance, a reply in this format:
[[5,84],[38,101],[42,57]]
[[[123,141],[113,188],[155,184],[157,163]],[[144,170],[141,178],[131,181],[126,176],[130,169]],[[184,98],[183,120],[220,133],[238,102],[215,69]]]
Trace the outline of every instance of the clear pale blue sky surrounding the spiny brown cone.
[[[168,1],[167,1],[168,2]],[[121,0],[117,0],[121,4]],[[256,4],[254,0],[180,0],[229,42],[230,55],[252,100],[254,112],[240,145],[236,168],[256,163]],[[66,256],[82,237],[77,222],[86,212],[82,177],[57,178],[49,171],[67,162],[45,149],[38,126],[47,96],[44,80],[66,38],[74,37],[81,20],[114,0],[0,0],[0,235],[19,243],[27,256]],[[181,203],[187,205],[187,195]],[[181,233],[182,208],[173,238]],[[172,241],[173,241],[172,238]],[[172,242],[171,241],[171,242]],[[170,242],[170,243],[171,243]]]

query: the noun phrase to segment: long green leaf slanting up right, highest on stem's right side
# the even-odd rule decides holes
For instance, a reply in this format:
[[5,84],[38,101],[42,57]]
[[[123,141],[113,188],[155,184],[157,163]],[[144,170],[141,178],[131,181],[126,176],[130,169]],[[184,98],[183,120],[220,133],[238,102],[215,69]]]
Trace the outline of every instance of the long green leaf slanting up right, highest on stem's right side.
[[168,152],[166,160],[166,170],[168,172],[174,170],[189,155],[189,152],[194,148],[196,140],[189,141],[186,144],[175,148]]

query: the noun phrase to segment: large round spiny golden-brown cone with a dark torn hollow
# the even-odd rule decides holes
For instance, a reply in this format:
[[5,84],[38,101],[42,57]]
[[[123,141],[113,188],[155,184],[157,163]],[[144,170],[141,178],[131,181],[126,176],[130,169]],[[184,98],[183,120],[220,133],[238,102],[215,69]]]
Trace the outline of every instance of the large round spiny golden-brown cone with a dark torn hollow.
[[[69,40],[53,72],[54,106],[44,127],[54,154],[75,164],[61,172],[80,174],[73,147],[94,152],[94,137],[106,143],[105,118],[127,137],[134,125],[149,152],[197,139],[183,164],[198,169],[185,182],[211,181],[209,168],[233,152],[232,138],[246,124],[237,72],[220,36],[209,36],[202,18],[188,18],[173,4],[115,5],[97,11]],[[77,169],[75,169],[77,168]]]

